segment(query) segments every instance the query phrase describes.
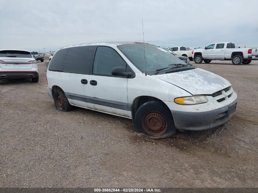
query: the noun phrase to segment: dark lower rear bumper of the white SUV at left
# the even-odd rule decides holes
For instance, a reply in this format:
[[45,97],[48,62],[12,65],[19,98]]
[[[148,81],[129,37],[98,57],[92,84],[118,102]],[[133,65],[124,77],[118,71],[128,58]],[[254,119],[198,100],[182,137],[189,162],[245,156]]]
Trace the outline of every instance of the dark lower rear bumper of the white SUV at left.
[[0,71],[0,79],[35,77],[38,77],[38,72],[36,71]]

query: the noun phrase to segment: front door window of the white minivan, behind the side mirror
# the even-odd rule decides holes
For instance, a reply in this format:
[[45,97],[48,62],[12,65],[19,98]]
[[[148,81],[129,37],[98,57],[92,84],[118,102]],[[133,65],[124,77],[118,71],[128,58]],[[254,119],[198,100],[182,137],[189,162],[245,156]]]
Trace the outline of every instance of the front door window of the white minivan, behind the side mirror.
[[112,69],[117,66],[125,70],[126,63],[121,56],[112,48],[99,46],[94,58],[93,74],[111,75]]

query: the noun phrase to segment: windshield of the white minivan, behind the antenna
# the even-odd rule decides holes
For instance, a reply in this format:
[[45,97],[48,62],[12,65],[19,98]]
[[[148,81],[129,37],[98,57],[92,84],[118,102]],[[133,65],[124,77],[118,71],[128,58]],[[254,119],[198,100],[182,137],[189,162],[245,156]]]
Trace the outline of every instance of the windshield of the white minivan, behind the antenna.
[[[144,59],[145,46],[145,59]],[[124,44],[118,45],[117,48],[130,60],[141,72],[155,72],[158,69],[171,69],[188,66],[182,60],[170,52],[151,44]],[[183,65],[182,65],[183,64]],[[190,66],[189,66],[190,67]]]

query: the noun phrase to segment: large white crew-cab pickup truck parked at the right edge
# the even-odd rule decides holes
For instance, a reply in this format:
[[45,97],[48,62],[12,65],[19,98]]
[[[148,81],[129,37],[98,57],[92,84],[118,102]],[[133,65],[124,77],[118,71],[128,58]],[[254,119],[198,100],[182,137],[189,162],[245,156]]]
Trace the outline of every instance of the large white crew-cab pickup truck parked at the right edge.
[[258,59],[258,48],[235,48],[231,42],[212,43],[205,48],[192,51],[197,64],[210,63],[212,60],[231,60],[234,65],[249,64]]

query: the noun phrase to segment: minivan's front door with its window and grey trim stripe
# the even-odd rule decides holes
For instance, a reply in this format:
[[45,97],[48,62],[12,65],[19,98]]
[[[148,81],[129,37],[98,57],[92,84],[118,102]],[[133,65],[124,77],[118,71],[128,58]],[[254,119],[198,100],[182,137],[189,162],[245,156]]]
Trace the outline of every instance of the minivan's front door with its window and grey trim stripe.
[[129,117],[127,78],[111,75],[117,66],[126,70],[126,62],[113,48],[98,46],[89,74],[92,109]]

